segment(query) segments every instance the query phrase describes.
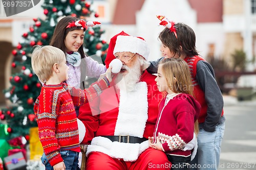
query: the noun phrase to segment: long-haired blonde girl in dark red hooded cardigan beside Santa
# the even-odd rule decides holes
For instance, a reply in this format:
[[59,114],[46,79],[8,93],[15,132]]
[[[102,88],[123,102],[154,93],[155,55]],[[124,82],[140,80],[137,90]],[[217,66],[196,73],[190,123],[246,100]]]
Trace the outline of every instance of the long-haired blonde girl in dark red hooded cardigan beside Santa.
[[158,90],[167,94],[159,104],[154,137],[148,138],[149,145],[165,152],[172,170],[188,169],[191,150],[183,148],[193,139],[194,129],[198,132],[201,109],[193,97],[188,65],[182,59],[165,59],[158,67],[155,81]]

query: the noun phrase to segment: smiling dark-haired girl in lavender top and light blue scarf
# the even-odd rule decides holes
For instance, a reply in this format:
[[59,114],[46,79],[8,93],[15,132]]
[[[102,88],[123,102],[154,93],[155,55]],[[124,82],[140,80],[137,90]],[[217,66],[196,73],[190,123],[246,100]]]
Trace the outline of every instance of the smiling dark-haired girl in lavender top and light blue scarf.
[[66,16],[57,23],[50,45],[60,48],[65,54],[69,66],[67,83],[76,88],[84,89],[86,76],[99,77],[106,71],[103,64],[99,64],[83,52],[84,32],[88,27],[100,24],[96,21],[86,22],[72,16]]

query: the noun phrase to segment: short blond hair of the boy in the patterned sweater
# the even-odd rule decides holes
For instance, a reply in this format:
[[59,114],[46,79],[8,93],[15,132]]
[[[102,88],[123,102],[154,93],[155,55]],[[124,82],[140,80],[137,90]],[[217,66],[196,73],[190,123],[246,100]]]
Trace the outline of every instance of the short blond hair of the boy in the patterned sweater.
[[36,45],[31,56],[31,65],[41,82],[48,81],[53,76],[53,65],[66,59],[65,54],[57,47]]

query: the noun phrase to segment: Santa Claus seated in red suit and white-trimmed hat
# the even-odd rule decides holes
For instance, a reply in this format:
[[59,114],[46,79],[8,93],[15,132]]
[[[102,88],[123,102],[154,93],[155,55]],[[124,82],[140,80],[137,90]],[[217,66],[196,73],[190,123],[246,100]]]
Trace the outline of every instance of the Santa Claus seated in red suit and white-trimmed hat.
[[111,39],[105,64],[119,59],[121,71],[111,88],[79,110],[86,128],[82,143],[90,143],[87,170],[170,169],[164,152],[148,148],[162,99],[156,77],[145,70],[149,52],[140,37],[121,32]]

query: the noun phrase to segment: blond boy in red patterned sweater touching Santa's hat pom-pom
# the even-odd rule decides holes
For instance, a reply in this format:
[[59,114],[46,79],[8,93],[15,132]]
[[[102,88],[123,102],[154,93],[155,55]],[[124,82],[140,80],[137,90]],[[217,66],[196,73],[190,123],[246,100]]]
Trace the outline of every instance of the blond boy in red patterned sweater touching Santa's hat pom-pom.
[[79,135],[75,106],[92,101],[109,87],[111,68],[106,77],[88,89],[76,89],[63,83],[69,67],[65,54],[56,47],[37,46],[32,53],[32,68],[41,82],[41,92],[34,105],[39,139],[44,149],[41,158],[46,169],[75,170],[78,163]]

